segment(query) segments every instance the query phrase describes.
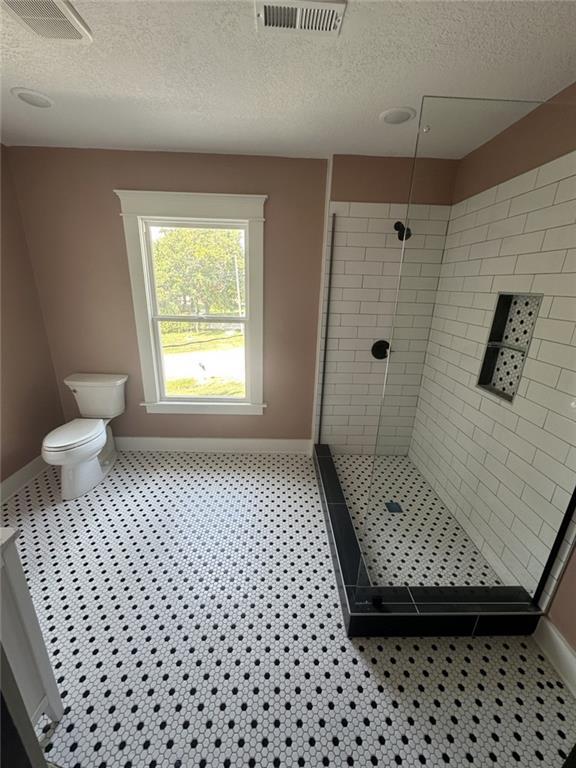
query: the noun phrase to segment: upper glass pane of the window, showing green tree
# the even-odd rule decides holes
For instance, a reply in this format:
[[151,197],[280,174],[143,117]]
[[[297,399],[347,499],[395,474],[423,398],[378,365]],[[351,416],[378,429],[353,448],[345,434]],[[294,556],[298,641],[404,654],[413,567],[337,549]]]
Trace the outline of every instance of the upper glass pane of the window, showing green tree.
[[151,226],[150,241],[158,314],[245,314],[244,229]]

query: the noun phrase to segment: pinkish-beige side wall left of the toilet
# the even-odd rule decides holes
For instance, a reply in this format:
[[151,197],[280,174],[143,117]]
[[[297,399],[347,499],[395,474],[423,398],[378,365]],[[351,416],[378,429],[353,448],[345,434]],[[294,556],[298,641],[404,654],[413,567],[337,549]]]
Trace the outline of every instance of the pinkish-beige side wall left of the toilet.
[[62,423],[62,408],[20,212],[2,148],[2,385],[0,477],[40,453],[44,435]]

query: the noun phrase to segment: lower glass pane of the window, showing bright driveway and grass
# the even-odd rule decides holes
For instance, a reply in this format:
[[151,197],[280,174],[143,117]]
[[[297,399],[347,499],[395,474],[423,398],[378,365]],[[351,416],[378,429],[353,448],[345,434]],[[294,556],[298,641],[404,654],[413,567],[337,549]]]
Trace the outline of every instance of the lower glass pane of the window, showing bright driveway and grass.
[[167,397],[246,397],[242,323],[159,323]]

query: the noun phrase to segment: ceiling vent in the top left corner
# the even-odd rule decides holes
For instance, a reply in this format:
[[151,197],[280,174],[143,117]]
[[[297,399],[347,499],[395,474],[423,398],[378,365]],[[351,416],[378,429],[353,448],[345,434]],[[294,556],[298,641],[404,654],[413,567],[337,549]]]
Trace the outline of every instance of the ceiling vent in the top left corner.
[[67,0],[2,0],[2,7],[39,37],[92,41],[90,27]]

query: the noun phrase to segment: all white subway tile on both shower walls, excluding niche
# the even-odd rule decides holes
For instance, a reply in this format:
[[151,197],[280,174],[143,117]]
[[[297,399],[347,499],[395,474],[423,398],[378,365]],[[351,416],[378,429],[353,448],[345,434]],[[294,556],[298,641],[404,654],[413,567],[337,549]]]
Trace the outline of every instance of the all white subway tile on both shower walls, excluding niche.
[[[412,206],[400,285],[407,206],[330,210],[322,441],[408,453],[498,575],[534,589],[576,484],[576,152],[452,208]],[[544,296],[512,403],[476,386],[498,292]],[[544,605],[575,537],[572,521]]]

